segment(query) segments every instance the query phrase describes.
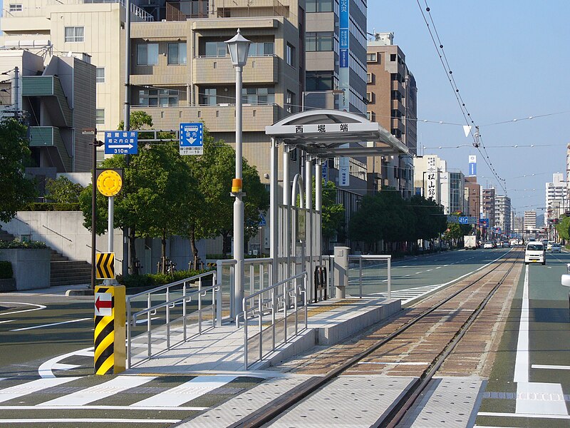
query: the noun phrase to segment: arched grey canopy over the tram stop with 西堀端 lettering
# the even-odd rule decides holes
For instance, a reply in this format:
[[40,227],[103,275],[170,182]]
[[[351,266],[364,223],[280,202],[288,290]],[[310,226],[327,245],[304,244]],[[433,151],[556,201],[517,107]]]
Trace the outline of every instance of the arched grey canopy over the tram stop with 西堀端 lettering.
[[302,111],[266,126],[265,133],[317,158],[408,154],[408,148],[377,122],[346,111]]

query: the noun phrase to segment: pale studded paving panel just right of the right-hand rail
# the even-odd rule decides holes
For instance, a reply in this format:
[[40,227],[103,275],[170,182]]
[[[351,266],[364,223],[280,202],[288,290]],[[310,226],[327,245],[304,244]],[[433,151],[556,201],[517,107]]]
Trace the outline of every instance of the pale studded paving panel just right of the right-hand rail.
[[[403,428],[472,427],[477,400],[482,398],[483,380],[472,377],[439,377],[410,409],[398,426]],[[477,408],[475,408],[477,407]],[[470,420],[472,414],[473,419]]]

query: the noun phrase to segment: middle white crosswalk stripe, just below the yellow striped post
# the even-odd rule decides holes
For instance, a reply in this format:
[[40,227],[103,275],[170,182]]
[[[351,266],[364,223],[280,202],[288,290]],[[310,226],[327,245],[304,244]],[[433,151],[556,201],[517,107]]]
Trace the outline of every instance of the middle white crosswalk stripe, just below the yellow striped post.
[[140,385],[156,379],[155,376],[119,376],[94,387],[81,389],[81,391],[73,392],[73,394],[63,395],[47,402],[41,403],[42,406],[81,406],[89,404],[99,399],[108,398],[110,395],[118,394],[127,389],[140,387]]

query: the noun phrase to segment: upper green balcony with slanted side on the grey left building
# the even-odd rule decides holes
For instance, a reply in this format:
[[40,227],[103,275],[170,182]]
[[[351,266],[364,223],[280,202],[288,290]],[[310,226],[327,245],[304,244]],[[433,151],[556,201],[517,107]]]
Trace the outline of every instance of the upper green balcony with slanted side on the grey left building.
[[73,126],[73,114],[56,76],[23,76],[22,96],[40,97],[56,126]]

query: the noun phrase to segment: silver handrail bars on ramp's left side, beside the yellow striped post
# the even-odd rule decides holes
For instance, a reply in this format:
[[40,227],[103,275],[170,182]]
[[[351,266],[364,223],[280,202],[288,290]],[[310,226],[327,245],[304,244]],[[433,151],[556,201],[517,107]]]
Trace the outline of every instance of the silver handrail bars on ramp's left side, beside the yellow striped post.
[[[207,287],[202,287],[202,279],[204,277],[212,277],[212,285]],[[195,282],[198,282],[197,288],[190,290],[190,287],[195,286]],[[175,290],[173,290],[175,289]],[[172,291],[182,292],[182,295],[178,295],[177,297],[171,297],[170,293]],[[155,305],[152,304],[152,297],[153,295],[157,295],[157,293],[165,292],[164,301],[156,303]],[[202,326],[203,324],[203,317],[202,317],[202,300],[203,297],[207,297],[208,293],[212,293],[212,305],[211,305],[211,315],[212,315],[212,325],[204,329]],[[146,306],[136,312],[133,312],[133,302],[135,302],[139,297],[146,297]],[[212,328],[216,327],[216,325],[220,325],[221,320],[221,292],[219,284],[217,283],[217,273],[215,271],[211,272],[204,272],[199,275],[195,275],[192,277],[185,278],[184,280],[178,280],[175,282],[171,282],[170,284],[160,285],[159,287],[155,287],[152,290],[146,290],[143,292],[138,292],[134,295],[129,295],[126,299],[126,309],[127,309],[127,365],[128,367],[133,367],[133,329],[137,326],[137,320],[139,318],[146,318],[146,332],[143,332],[140,336],[146,335],[147,340],[147,355],[146,359],[152,358],[152,315],[156,315],[159,310],[165,310],[165,323],[160,327],[165,327],[166,330],[166,350],[170,350],[171,347],[178,345],[182,342],[185,342],[189,339],[187,334],[187,317],[191,314],[198,315],[197,321],[197,334],[201,335],[202,332],[211,330]],[[197,301],[197,310],[192,312],[188,311],[187,304],[191,303],[192,301]],[[177,305],[182,304],[182,317],[177,318],[176,320],[171,320],[171,309],[175,308]],[[182,339],[178,340],[175,343],[171,343],[171,331],[170,325],[173,321],[182,320]],[[140,337],[138,336],[138,337]],[[192,335],[192,337],[195,335]],[[163,350],[160,350],[163,351]]]

